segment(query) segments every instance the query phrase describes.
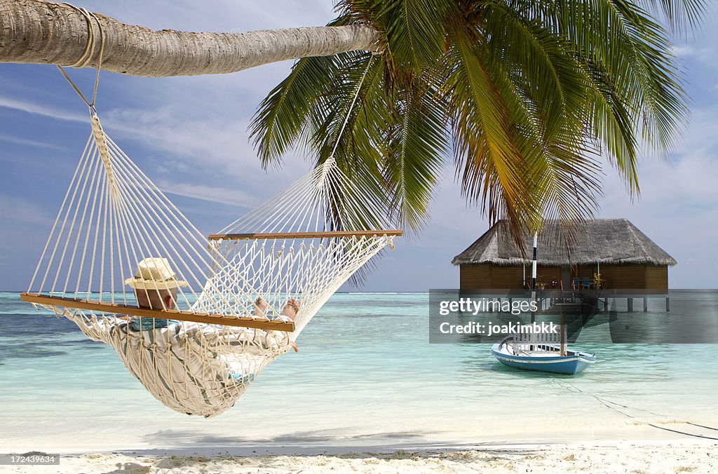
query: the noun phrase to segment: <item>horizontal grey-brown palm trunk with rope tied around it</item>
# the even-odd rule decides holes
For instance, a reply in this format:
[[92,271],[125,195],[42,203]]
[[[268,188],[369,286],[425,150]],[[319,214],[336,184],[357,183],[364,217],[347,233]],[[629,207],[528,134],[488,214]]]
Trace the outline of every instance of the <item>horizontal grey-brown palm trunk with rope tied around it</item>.
[[96,68],[100,29],[103,70],[149,77],[234,73],[299,57],[374,51],[378,45],[376,30],[361,25],[247,33],[154,31],[101,14],[88,17],[68,4],[0,0],[0,62]]

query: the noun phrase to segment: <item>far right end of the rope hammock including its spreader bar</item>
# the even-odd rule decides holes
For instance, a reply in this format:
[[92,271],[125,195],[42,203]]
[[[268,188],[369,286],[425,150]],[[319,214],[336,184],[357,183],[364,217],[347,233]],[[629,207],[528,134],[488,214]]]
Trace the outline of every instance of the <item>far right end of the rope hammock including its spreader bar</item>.
[[218,300],[221,294],[239,294],[241,289],[233,287],[238,282],[266,295],[272,307],[281,307],[287,297],[301,300],[294,339],[344,282],[384,246],[393,245],[396,233],[367,231],[368,223],[391,228],[376,204],[363,199],[329,159],[210,236],[213,249],[228,261],[228,271],[217,274],[212,287],[220,289]]

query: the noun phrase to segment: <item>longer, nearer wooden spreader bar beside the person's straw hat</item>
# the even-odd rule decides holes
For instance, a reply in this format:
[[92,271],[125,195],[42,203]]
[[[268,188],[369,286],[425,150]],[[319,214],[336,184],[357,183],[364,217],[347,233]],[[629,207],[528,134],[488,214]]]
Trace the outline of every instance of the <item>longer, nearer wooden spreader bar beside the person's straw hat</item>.
[[211,313],[193,313],[180,310],[147,310],[130,305],[92,301],[89,299],[75,299],[65,297],[47,296],[37,293],[20,293],[20,299],[29,303],[39,305],[61,306],[77,308],[78,310],[93,310],[96,312],[108,312],[119,315],[139,317],[159,317],[164,320],[180,320],[191,322],[202,322],[205,324],[218,324],[225,326],[253,327],[272,331],[294,332],[294,321],[270,320],[265,318],[256,319],[253,317],[223,316]]

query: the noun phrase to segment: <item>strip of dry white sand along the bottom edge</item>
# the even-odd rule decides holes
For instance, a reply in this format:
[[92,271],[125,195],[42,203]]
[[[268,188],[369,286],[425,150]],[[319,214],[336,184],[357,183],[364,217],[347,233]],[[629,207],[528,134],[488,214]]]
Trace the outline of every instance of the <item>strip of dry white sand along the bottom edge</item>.
[[473,450],[398,450],[322,455],[89,453],[27,473],[714,473],[716,442],[485,445]]

